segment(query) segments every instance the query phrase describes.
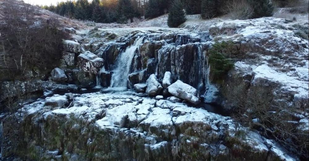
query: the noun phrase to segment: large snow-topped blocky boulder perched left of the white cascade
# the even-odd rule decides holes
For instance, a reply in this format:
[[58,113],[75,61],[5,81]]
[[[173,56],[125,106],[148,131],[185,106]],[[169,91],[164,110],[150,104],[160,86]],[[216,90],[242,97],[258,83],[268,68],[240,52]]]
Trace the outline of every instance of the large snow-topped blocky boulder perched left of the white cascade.
[[87,51],[78,56],[79,68],[84,72],[97,74],[104,65],[104,60]]

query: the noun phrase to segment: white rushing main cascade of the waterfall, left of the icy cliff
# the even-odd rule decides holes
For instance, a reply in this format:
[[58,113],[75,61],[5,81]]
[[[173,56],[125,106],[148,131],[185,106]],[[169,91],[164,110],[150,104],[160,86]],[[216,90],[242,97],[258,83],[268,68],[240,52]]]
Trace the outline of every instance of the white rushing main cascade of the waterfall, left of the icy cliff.
[[133,45],[128,47],[125,52],[117,58],[116,69],[113,70],[110,87],[127,87],[128,75],[136,49],[142,44],[144,37],[137,38]]

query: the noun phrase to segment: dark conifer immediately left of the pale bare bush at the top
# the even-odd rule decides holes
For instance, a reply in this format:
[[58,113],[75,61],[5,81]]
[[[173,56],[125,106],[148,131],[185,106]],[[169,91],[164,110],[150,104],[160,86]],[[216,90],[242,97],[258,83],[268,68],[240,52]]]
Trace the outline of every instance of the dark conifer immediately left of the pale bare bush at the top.
[[211,19],[217,14],[216,0],[202,0],[201,17],[202,19]]

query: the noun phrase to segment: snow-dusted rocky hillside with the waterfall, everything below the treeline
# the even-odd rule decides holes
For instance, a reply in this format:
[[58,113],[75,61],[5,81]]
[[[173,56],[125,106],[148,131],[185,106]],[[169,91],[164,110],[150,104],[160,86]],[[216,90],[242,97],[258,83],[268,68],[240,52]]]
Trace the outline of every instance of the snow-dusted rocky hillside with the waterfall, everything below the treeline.
[[309,21],[292,9],[169,28],[1,1],[2,157],[307,160]]

